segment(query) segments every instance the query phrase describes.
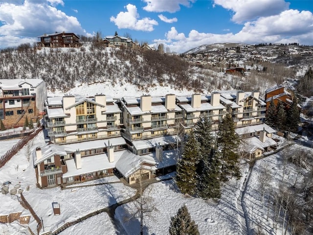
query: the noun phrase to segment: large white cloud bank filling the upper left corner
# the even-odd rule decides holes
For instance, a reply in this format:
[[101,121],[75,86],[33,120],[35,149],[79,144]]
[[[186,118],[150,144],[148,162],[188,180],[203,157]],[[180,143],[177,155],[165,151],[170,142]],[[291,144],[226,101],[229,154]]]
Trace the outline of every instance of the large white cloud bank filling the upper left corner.
[[[76,17],[67,16],[53,4],[63,4],[61,0],[24,0],[20,4],[0,3],[0,45],[18,46],[25,41],[37,41],[37,36],[55,31],[74,32],[86,35]],[[23,38],[23,39],[22,39]]]

